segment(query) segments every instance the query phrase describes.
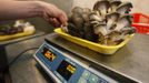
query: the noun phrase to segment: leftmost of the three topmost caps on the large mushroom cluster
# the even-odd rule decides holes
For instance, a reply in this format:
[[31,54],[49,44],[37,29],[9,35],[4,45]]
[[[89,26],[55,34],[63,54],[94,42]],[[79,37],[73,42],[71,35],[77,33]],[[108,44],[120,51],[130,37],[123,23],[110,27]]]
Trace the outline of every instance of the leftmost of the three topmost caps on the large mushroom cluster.
[[109,0],[100,0],[96,2],[96,4],[93,6],[93,10],[99,11],[100,14],[105,18],[105,15],[108,13],[109,7]]

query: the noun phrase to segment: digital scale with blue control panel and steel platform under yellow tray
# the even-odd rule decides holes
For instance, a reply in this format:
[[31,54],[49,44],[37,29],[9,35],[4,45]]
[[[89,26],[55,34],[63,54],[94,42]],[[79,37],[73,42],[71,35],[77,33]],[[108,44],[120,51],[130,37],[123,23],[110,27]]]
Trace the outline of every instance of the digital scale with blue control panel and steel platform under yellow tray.
[[[143,40],[136,42],[138,38]],[[148,42],[149,37],[137,34],[113,55],[103,55],[51,33],[34,59],[56,83],[146,83]]]

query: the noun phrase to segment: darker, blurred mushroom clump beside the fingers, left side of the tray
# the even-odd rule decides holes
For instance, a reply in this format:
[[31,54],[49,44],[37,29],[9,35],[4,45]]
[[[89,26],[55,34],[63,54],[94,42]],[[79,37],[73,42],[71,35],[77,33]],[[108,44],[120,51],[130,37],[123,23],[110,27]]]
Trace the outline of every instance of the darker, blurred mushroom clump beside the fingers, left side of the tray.
[[[89,13],[91,12],[88,8],[76,7],[72,9],[72,14],[69,18],[68,32],[76,37],[85,38],[85,23],[89,22]],[[73,31],[73,30],[74,31]]]

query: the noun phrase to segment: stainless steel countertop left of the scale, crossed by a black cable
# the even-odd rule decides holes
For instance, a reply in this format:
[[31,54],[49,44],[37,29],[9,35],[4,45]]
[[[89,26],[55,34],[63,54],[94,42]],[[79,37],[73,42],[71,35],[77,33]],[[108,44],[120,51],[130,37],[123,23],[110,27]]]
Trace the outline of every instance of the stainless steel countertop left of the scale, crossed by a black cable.
[[[44,35],[23,40],[6,46],[8,61],[11,62],[19,53],[30,48],[38,48]],[[53,83],[33,59],[36,50],[23,53],[10,68],[12,83]]]

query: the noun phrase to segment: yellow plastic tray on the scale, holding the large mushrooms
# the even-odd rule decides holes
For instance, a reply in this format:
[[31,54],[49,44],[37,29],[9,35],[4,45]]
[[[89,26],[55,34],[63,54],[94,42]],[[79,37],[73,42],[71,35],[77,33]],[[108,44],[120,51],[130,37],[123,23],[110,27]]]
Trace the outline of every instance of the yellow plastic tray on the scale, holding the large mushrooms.
[[72,37],[72,35],[61,31],[60,28],[54,29],[54,32],[58,33],[59,35],[61,35],[62,38],[71,41],[71,42],[74,42],[79,45],[89,48],[90,50],[97,51],[97,52],[102,53],[102,54],[113,54],[118,49],[120,49],[125,44],[127,44],[129,42],[129,40],[135,35],[135,34],[129,35],[123,42],[121,42],[118,45],[107,46],[107,45],[102,45],[102,44],[99,44],[99,43],[87,41],[87,40],[83,40],[83,39],[80,39],[80,38],[77,38],[77,37]]

